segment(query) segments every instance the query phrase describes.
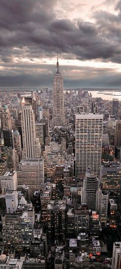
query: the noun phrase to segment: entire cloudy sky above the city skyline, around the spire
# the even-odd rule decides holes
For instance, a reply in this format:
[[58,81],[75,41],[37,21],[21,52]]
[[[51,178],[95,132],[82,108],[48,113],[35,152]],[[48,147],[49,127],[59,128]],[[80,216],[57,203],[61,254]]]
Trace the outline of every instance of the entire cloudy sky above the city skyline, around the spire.
[[0,87],[121,87],[121,1],[0,0]]

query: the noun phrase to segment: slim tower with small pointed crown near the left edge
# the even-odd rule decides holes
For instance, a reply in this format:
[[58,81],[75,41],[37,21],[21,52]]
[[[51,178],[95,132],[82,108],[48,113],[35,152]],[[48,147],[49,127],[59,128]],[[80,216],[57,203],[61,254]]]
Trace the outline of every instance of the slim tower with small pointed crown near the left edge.
[[4,130],[12,129],[10,110],[7,105],[4,106],[2,118],[3,118],[3,129]]

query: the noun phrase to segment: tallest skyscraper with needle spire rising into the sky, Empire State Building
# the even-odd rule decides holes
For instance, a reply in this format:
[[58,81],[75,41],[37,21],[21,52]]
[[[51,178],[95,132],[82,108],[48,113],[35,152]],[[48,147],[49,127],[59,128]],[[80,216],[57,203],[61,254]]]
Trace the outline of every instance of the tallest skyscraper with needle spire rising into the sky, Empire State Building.
[[53,79],[53,126],[64,125],[64,85],[59,72],[58,56],[56,73]]

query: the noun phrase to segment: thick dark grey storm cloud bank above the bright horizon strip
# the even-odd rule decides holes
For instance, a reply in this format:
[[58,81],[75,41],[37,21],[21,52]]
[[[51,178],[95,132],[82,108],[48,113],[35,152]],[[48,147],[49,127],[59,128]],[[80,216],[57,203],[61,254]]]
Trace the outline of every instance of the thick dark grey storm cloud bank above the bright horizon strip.
[[[81,19],[75,24],[66,19],[58,20],[54,13],[55,4],[54,0],[1,0],[1,55],[9,56],[8,48],[16,46],[21,48],[22,55],[27,46],[29,57],[43,57],[47,52],[47,56],[54,55],[57,47],[60,53],[83,60],[116,59],[117,54],[121,54],[117,49],[121,39],[118,31],[120,12],[117,16],[100,12],[95,15],[96,24]],[[120,2],[116,9],[119,7]],[[4,52],[3,47],[6,48]],[[14,50],[11,53],[16,54]]]

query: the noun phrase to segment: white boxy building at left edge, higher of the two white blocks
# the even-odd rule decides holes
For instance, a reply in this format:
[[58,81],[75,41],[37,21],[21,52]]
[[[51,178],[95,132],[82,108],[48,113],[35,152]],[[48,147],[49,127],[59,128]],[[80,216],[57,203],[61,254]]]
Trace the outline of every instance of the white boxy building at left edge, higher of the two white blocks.
[[7,193],[7,190],[17,189],[16,171],[5,172],[5,174],[1,176],[1,189],[2,189],[2,195],[5,195]]

